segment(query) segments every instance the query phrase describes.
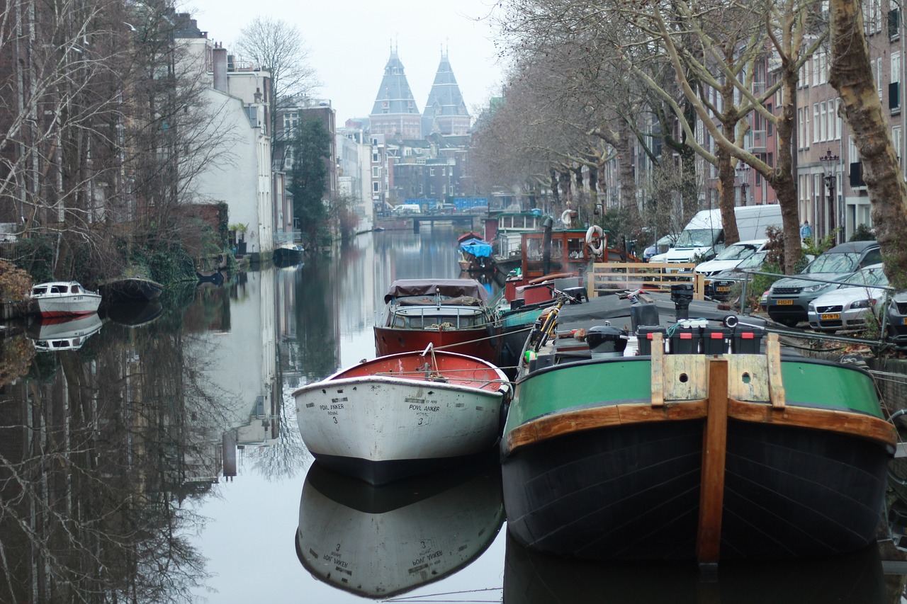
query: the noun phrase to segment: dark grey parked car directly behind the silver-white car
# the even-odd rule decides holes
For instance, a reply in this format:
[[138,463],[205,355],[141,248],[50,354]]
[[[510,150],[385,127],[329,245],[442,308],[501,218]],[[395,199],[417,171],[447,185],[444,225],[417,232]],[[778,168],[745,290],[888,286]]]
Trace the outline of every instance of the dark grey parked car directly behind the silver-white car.
[[[834,246],[806,265],[799,275],[775,281],[768,290],[768,316],[793,327],[807,319],[809,303],[825,292],[839,287],[860,268],[882,262],[876,241],[848,241]],[[804,278],[798,278],[803,276]]]

